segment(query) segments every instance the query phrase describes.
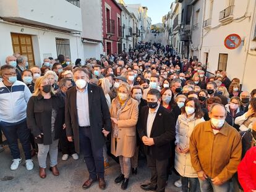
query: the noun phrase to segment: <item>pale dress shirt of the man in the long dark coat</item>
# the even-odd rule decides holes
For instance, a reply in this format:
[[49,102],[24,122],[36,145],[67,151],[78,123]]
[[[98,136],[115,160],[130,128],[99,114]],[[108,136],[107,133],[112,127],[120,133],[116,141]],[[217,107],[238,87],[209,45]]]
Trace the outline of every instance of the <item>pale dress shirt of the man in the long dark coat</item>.
[[80,127],[90,126],[88,88],[77,90],[77,117]]

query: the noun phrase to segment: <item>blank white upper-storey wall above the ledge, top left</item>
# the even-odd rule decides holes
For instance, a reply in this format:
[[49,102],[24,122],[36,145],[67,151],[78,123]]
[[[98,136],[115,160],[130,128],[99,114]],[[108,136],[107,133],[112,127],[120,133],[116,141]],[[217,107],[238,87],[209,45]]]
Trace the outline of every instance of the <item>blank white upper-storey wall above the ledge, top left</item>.
[[0,17],[82,31],[81,9],[64,0],[1,0]]

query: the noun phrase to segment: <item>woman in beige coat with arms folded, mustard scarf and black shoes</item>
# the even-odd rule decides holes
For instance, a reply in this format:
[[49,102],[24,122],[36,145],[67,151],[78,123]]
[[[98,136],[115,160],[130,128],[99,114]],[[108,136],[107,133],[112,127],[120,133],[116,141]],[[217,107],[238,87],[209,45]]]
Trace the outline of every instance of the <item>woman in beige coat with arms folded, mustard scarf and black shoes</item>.
[[113,99],[110,109],[113,130],[111,135],[111,153],[119,157],[121,175],[114,182],[121,183],[126,190],[130,174],[130,158],[134,156],[136,144],[136,123],[139,115],[138,102],[130,97],[130,86],[121,83],[118,96]]

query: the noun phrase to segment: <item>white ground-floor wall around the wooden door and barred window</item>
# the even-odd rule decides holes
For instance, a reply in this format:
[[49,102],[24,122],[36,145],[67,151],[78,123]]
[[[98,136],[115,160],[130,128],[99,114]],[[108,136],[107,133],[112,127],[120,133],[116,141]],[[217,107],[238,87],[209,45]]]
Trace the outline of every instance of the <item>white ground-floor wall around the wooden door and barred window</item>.
[[[23,32],[21,33],[21,29]],[[6,56],[13,54],[11,33],[21,33],[26,35],[32,35],[33,51],[35,56],[36,65],[40,65],[43,62],[43,54],[51,54],[55,59],[57,57],[56,39],[55,38],[67,38],[70,41],[70,54],[72,62],[75,59],[83,59],[83,46],[79,36],[72,36],[69,34],[63,34],[56,31],[47,31],[36,28],[30,28],[25,26],[19,26],[15,24],[7,24],[0,22],[0,64],[5,64]]]

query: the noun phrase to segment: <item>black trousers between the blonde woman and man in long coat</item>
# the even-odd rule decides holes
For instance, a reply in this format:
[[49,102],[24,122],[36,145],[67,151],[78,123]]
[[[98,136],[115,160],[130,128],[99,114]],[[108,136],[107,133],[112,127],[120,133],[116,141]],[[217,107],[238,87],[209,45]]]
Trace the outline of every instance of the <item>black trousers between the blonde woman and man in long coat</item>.
[[61,136],[59,138],[59,146],[61,147],[61,152],[62,154],[75,154],[75,144],[74,141],[69,142],[67,140],[67,134],[66,134],[66,130],[62,129],[61,130]]

